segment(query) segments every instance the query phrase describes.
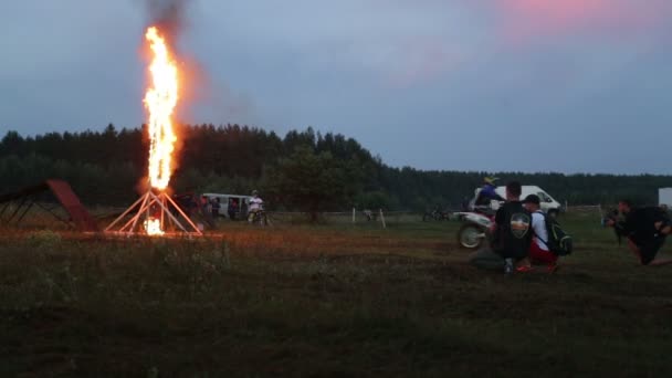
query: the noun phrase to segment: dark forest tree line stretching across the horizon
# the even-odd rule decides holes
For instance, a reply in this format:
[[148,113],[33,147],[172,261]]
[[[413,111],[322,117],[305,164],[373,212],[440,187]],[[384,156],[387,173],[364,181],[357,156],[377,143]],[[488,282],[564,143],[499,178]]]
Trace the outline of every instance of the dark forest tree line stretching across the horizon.
[[[48,178],[67,180],[88,204],[133,201],[146,176],[145,125],[102,132],[22,136],[0,140],[0,182],[11,192]],[[537,185],[570,204],[613,203],[629,198],[654,203],[672,176],[564,175],[557,172],[427,171],[386,165],[357,140],[313,128],[284,136],[240,125],[180,125],[171,189],[249,193],[259,189],[275,209],[347,210],[353,206],[423,211],[458,208],[485,176]]]

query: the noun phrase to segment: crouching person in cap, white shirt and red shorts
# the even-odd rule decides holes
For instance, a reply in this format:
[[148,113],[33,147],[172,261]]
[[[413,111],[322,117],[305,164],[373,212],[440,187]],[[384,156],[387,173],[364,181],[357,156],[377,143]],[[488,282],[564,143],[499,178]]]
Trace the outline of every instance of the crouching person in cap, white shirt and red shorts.
[[523,204],[532,213],[533,240],[527,256],[532,264],[546,264],[548,273],[555,273],[558,269],[558,256],[548,248],[546,214],[542,211],[540,203],[537,195],[529,195],[523,200]]

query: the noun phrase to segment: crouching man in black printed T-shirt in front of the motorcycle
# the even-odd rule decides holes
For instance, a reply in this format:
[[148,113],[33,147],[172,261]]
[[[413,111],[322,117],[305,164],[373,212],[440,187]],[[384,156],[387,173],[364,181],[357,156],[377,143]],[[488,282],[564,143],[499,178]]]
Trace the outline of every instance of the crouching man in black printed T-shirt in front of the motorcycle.
[[521,182],[506,185],[506,203],[495,214],[493,251],[504,261],[504,272],[512,273],[515,264],[526,260],[532,243],[532,214],[521,202]]

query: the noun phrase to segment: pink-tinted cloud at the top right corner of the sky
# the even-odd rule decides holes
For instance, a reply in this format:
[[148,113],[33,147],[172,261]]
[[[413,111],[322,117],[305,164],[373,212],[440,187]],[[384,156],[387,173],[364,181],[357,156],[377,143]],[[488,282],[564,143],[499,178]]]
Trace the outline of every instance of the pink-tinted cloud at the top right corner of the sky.
[[647,32],[670,20],[670,0],[495,0],[504,34],[512,42],[566,34],[618,39]]

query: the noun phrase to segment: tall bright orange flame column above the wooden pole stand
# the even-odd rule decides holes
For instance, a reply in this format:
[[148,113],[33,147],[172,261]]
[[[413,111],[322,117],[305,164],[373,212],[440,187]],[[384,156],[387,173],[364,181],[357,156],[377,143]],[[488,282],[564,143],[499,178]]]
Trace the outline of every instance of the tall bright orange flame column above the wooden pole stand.
[[178,71],[158,29],[147,29],[145,38],[154,54],[149,66],[151,85],[145,94],[145,107],[149,111],[149,183],[153,188],[165,190],[170,181],[170,160],[177,140],[172,129],[172,112],[178,99]]

